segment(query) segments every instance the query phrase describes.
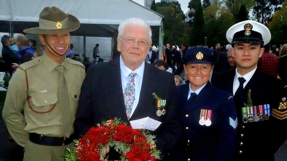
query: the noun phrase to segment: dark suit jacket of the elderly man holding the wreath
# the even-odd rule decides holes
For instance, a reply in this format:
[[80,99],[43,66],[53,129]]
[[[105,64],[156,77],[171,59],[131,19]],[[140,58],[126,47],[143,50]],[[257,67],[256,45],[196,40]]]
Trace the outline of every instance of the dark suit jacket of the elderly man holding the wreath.
[[[167,100],[166,114],[160,117],[156,115],[156,100],[153,98],[153,92]],[[139,104],[130,120],[149,116],[162,122],[158,129],[150,133],[157,136],[156,145],[163,155],[167,155],[173,148],[180,130],[176,98],[173,75],[145,63]],[[75,133],[84,135],[89,128],[102,120],[115,117],[128,123],[121,86],[119,57],[110,62],[90,66],[81,87],[79,107],[74,122]]]

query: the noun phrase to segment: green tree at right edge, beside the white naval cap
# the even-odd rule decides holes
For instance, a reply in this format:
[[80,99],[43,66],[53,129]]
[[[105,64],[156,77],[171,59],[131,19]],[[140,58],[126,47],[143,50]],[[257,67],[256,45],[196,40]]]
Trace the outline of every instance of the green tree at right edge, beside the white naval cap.
[[283,2],[281,9],[274,13],[268,28],[272,35],[271,44],[279,46],[287,43],[287,0]]

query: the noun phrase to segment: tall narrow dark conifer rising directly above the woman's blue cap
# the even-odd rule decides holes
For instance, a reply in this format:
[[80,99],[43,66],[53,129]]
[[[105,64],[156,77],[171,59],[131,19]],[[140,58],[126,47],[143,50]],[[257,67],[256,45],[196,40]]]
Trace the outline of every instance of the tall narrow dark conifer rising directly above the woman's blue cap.
[[203,11],[201,6],[201,1],[197,1],[194,15],[193,26],[191,29],[190,45],[203,45],[205,44],[206,31],[204,28]]

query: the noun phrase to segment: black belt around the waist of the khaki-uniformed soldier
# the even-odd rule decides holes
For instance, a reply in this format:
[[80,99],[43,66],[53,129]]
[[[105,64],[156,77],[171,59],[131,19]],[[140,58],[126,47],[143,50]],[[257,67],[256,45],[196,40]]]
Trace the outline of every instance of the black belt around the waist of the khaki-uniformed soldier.
[[39,145],[49,145],[49,146],[62,146],[68,145],[73,142],[73,137],[53,137],[53,136],[44,136],[37,133],[29,133],[29,140],[32,143]]

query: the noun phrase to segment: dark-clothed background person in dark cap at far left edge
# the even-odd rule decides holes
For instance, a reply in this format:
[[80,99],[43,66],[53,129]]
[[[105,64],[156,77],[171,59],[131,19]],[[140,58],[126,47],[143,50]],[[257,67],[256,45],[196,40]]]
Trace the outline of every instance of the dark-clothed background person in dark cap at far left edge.
[[10,37],[8,35],[4,35],[1,38],[2,47],[2,57],[5,63],[5,71],[6,74],[12,76],[14,69],[12,68],[12,63],[19,63],[19,58],[17,55],[9,48],[10,47]]

